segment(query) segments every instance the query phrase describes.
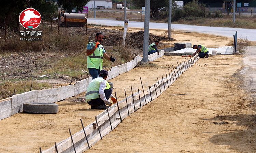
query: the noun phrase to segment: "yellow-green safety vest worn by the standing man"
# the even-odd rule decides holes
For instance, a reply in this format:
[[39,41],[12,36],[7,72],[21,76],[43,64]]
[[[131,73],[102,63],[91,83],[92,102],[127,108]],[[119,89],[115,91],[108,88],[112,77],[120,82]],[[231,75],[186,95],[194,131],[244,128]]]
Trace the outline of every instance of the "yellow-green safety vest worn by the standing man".
[[[95,47],[95,43],[90,42],[91,48]],[[100,49],[99,49],[100,48]],[[102,62],[103,62],[103,46],[99,44],[99,46],[95,49],[95,51],[87,56],[87,68],[95,68],[102,70]]]

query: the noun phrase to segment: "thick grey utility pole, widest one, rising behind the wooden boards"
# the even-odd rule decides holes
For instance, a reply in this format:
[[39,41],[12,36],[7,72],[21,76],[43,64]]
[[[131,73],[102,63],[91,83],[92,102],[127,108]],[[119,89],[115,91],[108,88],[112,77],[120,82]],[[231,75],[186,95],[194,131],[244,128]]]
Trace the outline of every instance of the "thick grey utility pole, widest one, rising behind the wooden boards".
[[148,62],[149,19],[150,19],[150,0],[146,0],[145,1],[143,57],[142,57],[143,62]]

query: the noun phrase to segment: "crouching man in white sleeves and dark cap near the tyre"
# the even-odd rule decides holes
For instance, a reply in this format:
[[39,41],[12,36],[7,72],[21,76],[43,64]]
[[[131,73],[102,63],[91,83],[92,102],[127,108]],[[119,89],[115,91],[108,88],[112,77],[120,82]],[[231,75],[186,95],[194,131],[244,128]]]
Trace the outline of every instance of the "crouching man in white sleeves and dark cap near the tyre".
[[[106,81],[107,77],[108,71],[101,70],[99,77],[90,82],[85,101],[91,105],[91,109],[106,109],[106,105],[109,108],[113,103],[116,103],[116,99],[112,95],[112,88]],[[108,100],[110,97],[113,103]]]

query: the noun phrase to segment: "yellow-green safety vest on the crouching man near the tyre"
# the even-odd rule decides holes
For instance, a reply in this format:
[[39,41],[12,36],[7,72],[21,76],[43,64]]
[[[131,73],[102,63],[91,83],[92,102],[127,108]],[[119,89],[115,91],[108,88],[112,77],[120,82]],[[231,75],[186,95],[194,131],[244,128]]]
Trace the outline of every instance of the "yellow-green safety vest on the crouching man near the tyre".
[[[106,81],[106,80],[103,79],[102,77],[98,77],[89,83],[89,86],[87,88],[86,95],[85,95],[85,102],[88,102],[91,99],[96,99],[100,97],[99,88],[100,88],[100,83],[102,81]],[[108,81],[106,81],[105,89],[109,89],[109,88],[110,88],[110,85]]]

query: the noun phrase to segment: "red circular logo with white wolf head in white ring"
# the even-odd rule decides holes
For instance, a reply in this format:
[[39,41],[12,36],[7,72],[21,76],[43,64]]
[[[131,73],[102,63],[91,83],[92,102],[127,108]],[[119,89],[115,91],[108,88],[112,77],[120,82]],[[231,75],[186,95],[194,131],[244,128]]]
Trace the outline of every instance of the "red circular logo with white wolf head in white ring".
[[41,15],[34,8],[27,8],[20,13],[19,23],[26,29],[35,29],[41,23]]

